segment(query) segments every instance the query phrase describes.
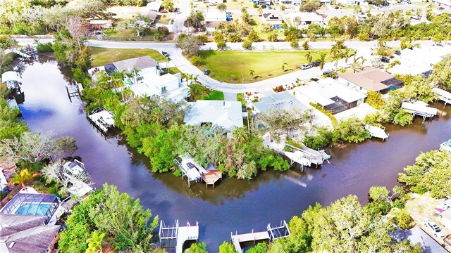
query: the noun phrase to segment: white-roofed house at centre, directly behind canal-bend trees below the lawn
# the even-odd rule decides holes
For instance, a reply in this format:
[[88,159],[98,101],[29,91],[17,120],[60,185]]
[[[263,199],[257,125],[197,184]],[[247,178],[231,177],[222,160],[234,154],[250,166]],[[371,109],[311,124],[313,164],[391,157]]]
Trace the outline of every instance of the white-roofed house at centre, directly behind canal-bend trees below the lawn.
[[[190,125],[212,124],[225,129],[243,126],[242,106],[237,101],[197,100],[189,102],[190,110],[186,113],[184,122]],[[247,116],[246,116],[247,117]]]

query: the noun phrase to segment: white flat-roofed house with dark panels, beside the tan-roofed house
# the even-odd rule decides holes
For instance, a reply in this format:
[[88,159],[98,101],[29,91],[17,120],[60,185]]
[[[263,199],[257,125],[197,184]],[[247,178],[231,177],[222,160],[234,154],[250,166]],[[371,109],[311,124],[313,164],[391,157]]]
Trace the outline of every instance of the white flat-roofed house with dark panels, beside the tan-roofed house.
[[366,96],[332,78],[309,82],[292,89],[296,98],[305,96],[333,114],[355,108],[364,102]]

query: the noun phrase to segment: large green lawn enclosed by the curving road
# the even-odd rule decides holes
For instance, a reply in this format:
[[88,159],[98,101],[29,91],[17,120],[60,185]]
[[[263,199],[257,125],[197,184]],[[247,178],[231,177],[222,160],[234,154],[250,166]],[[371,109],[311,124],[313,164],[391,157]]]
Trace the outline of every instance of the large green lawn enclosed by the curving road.
[[[332,58],[328,49],[311,50],[313,60],[319,58],[321,52],[328,53],[326,61]],[[316,53],[318,52],[318,53]],[[263,79],[287,74],[298,69],[307,63],[305,55],[307,51],[202,51],[204,65],[199,66],[199,70],[208,68],[211,71],[210,77],[235,84],[242,82],[257,82]],[[285,70],[282,70],[282,65]],[[254,70],[254,79],[251,79],[249,70]]]

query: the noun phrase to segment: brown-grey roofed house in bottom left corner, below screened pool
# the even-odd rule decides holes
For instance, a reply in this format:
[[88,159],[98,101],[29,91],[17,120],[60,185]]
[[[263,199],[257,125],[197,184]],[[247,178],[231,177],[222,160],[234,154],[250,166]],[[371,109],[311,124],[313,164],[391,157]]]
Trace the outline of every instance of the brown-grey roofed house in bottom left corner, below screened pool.
[[60,226],[43,225],[45,219],[45,216],[0,214],[0,252],[52,252]]

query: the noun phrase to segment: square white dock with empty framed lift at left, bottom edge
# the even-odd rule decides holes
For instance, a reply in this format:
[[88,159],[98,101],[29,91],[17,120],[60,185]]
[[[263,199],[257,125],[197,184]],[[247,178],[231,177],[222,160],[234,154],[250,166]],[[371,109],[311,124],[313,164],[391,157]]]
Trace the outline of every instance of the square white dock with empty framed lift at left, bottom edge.
[[183,253],[183,244],[186,241],[199,240],[199,223],[196,221],[196,226],[191,226],[187,221],[186,226],[180,226],[178,220],[175,220],[175,225],[166,226],[161,220],[159,238],[162,248],[175,248],[176,253]]

